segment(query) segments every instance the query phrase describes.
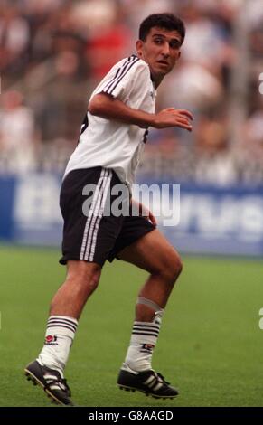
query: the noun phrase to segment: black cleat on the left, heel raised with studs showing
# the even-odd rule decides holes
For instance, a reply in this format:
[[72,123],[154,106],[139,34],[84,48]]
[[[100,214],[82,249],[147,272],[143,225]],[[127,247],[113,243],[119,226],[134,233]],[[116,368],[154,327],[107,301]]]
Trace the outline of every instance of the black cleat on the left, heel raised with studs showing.
[[34,385],[41,385],[52,401],[62,406],[73,406],[70,400],[70,388],[58,371],[42,366],[37,360],[34,360],[26,366],[24,373],[28,381],[33,381]]

